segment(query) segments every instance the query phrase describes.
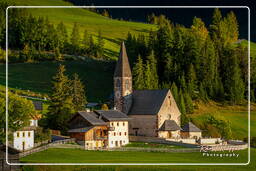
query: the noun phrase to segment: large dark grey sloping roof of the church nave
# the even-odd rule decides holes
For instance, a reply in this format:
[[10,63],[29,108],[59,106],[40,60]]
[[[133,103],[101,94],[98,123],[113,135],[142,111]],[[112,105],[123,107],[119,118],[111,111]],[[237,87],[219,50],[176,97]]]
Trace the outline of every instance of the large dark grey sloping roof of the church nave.
[[132,106],[129,115],[155,115],[159,112],[168,89],[135,90],[132,93]]

